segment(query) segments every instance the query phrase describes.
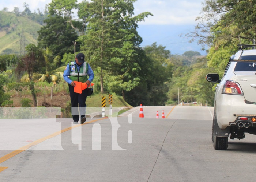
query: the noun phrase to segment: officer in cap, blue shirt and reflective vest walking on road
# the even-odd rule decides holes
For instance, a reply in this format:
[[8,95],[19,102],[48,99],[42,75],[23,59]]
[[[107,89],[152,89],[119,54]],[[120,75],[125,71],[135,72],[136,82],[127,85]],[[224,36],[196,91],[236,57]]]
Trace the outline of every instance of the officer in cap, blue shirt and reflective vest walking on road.
[[[89,76],[89,78],[88,78]],[[86,97],[88,88],[82,91],[82,94],[74,92],[74,87],[76,86],[74,81],[86,83],[87,86],[93,81],[94,73],[90,65],[87,62],[84,62],[84,54],[78,53],[76,55],[75,61],[68,63],[64,73],[64,80],[68,83],[69,94],[72,107],[72,116],[74,123],[78,123],[78,104],[79,111],[81,115],[81,124],[86,121],[85,118],[85,109],[86,109]],[[73,115],[74,114],[74,115]]]

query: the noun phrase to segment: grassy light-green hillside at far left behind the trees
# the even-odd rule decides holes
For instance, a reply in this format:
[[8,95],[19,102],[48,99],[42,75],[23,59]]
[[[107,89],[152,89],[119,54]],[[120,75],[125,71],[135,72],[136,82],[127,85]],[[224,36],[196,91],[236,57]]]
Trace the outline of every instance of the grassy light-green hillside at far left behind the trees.
[[27,17],[0,11],[0,54],[23,55],[27,44],[37,44],[41,27]]

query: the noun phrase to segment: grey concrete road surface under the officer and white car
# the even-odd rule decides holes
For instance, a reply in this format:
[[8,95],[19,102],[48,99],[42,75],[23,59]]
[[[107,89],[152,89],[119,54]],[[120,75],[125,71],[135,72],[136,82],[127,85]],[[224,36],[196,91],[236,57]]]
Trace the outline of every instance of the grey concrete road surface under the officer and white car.
[[[256,136],[246,134],[241,141],[229,141],[228,150],[214,150],[212,107],[143,107],[143,112],[144,118],[138,117],[139,107],[123,117],[88,118],[82,126],[62,118],[55,128],[61,134],[52,127],[48,134],[40,126],[47,136],[37,130],[39,135],[26,141],[32,144],[28,149],[0,150],[0,181],[255,181]],[[1,138],[12,132],[4,123],[0,120],[6,130]],[[26,128],[20,128],[12,143],[25,141]]]

